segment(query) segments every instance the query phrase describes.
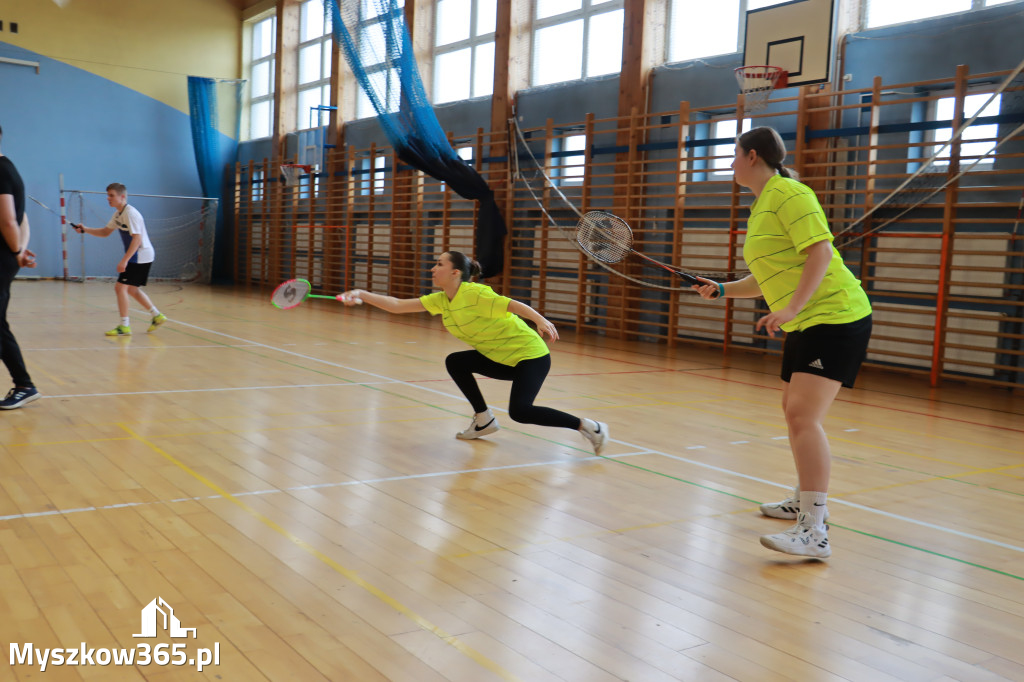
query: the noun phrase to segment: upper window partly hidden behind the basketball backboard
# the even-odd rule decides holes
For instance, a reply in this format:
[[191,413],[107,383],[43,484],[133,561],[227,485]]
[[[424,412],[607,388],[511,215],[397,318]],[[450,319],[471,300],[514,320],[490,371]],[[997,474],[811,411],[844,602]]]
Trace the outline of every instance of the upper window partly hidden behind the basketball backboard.
[[741,52],[746,12],[785,0],[672,0],[669,61]]

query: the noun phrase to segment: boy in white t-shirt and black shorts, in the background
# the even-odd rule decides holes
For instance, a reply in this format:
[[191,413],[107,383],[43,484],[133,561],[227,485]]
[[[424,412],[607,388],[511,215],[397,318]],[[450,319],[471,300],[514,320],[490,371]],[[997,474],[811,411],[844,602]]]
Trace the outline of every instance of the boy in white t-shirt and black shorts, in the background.
[[145,231],[145,221],[142,214],[134,206],[128,205],[128,190],[120,182],[106,185],[106,203],[115,209],[114,217],[104,227],[86,227],[80,223],[71,223],[79,233],[93,237],[108,237],[118,230],[125,246],[124,258],[118,263],[118,283],[114,291],[118,295],[118,312],[121,313],[121,324],[106,332],[106,336],[131,336],[131,318],[128,316],[128,297],[134,298],[150,311],[153,319],[150,323],[152,332],[165,322],[163,314],[153,304],[139,287],[144,287],[150,279],[150,267],[157,253]]

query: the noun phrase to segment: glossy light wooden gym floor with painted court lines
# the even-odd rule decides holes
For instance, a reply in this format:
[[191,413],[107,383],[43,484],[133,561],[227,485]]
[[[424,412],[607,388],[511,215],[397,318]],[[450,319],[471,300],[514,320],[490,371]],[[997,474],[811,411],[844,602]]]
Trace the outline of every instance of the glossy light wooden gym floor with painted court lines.
[[[596,458],[493,381],[502,430],[454,438],[425,313],[150,294],[170,322],[108,338],[111,284],[14,285],[45,397],[0,414],[0,680],[1024,680],[1020,394],[862,375],[801,560],[758,543],[794,483],[774,358],[566,334],[541,402],[608,422]],[[133,637],[158,597],[195,638]]]

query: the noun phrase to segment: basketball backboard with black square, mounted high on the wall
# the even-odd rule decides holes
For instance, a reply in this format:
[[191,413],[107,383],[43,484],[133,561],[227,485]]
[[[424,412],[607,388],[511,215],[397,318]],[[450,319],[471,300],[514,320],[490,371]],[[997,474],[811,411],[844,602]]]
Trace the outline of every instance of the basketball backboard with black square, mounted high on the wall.
[[793,0],[746,12],[743,66],[781,67],[788,85],[826,83],[831,73],[835,0]]

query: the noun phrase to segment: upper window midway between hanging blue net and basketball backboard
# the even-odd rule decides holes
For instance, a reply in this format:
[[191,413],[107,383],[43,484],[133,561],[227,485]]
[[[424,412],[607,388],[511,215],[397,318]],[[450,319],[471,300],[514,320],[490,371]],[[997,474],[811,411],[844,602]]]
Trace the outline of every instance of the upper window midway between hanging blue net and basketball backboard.
[[623,0],[537,0],[532,85],[617,74]]

